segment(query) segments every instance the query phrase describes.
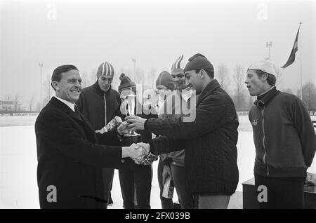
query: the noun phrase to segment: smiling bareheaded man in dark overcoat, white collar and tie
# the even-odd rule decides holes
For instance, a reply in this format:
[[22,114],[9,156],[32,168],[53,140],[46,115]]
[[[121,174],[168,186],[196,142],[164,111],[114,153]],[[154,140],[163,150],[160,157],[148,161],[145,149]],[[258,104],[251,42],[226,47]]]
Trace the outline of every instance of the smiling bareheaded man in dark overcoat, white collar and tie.
[[[77,67],[57,67],[51,86],[56,96],[41,110],[35,123],[40,206],[106,208],[102,168],[119,168],[121,158],[137,158],[145,151],[133,145],[98,144],[95,131],[74,104],[81,92]],[[119,127],[112,134],[117,137],[124,130]]]

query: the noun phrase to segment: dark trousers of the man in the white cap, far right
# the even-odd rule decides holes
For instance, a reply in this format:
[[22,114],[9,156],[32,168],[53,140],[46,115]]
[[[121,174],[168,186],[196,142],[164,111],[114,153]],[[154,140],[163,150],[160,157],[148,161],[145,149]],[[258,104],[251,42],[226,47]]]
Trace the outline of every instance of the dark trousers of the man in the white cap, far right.
[[[303,209],[305,178],[255,175],[257,201],[261,209]],[[260,187],[258,189],[258,187]],[[264,194],[263,190],[267,190]],[[266,196],[266,199],[264,199]],[[265,202],[266,201],[266,202]]]

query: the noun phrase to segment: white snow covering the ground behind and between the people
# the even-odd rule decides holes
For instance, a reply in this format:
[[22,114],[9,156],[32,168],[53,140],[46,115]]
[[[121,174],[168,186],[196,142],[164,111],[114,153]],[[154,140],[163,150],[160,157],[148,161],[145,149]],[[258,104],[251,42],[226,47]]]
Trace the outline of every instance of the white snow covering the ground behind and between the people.
[[[316,116],[312,116],[315,118]],[[29,120],[28,120],[29,121]],[[253,177],[254,142],[248,116],[239,116],[238,167],[239,184]],[[34,125],[34,123],[32,123]],[[0,208],[39,208],[37,191],[37,147],[34,126],[0,127]],[[151,203],[152,208],[161,208],[157,182],[157,162],[153,163]],[[316,173],[316,161],[308,170]],[[112,188],[114,205],[109,208],[122,208],[121,189],[117,170],[114,173]],[[175,193],[173,199],[178,198]],[[242,193],[237,192],[230,199],[229,208],[242,208]]]

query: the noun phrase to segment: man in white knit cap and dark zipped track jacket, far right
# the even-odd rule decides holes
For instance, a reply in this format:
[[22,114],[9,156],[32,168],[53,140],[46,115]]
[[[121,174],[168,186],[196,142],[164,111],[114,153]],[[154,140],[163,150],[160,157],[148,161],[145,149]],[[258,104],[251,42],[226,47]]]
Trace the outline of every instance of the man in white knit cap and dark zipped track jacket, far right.
[[257,96],[249,121],[256,147],[258,203],[260,208],[303,208],[306,170],[316,149],[315,130],[302,100],[280,92],[275,82],[275,69],[268,60],[247,70],[249,94]]

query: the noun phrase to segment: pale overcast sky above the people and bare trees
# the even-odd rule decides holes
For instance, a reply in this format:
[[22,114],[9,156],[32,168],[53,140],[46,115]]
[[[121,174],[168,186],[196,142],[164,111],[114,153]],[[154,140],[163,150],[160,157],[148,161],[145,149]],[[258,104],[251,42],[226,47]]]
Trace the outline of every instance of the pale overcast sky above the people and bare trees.
[[[181,54],[183,67],[202,53],[214,67],[246,68],[268,56],[265,43],[272,41],[272,60],[281,67],[299,22],[303,82],[316,83],[315,1],[1,1],[0,7],[0,100],[39,95],[39,62],[51,74],[59,65],[83,72],[107,61],[119,76],[136,58],[136,67],[154,67],[158,76]],[[284,86],[298,88],[298,61],[284,69]]]

